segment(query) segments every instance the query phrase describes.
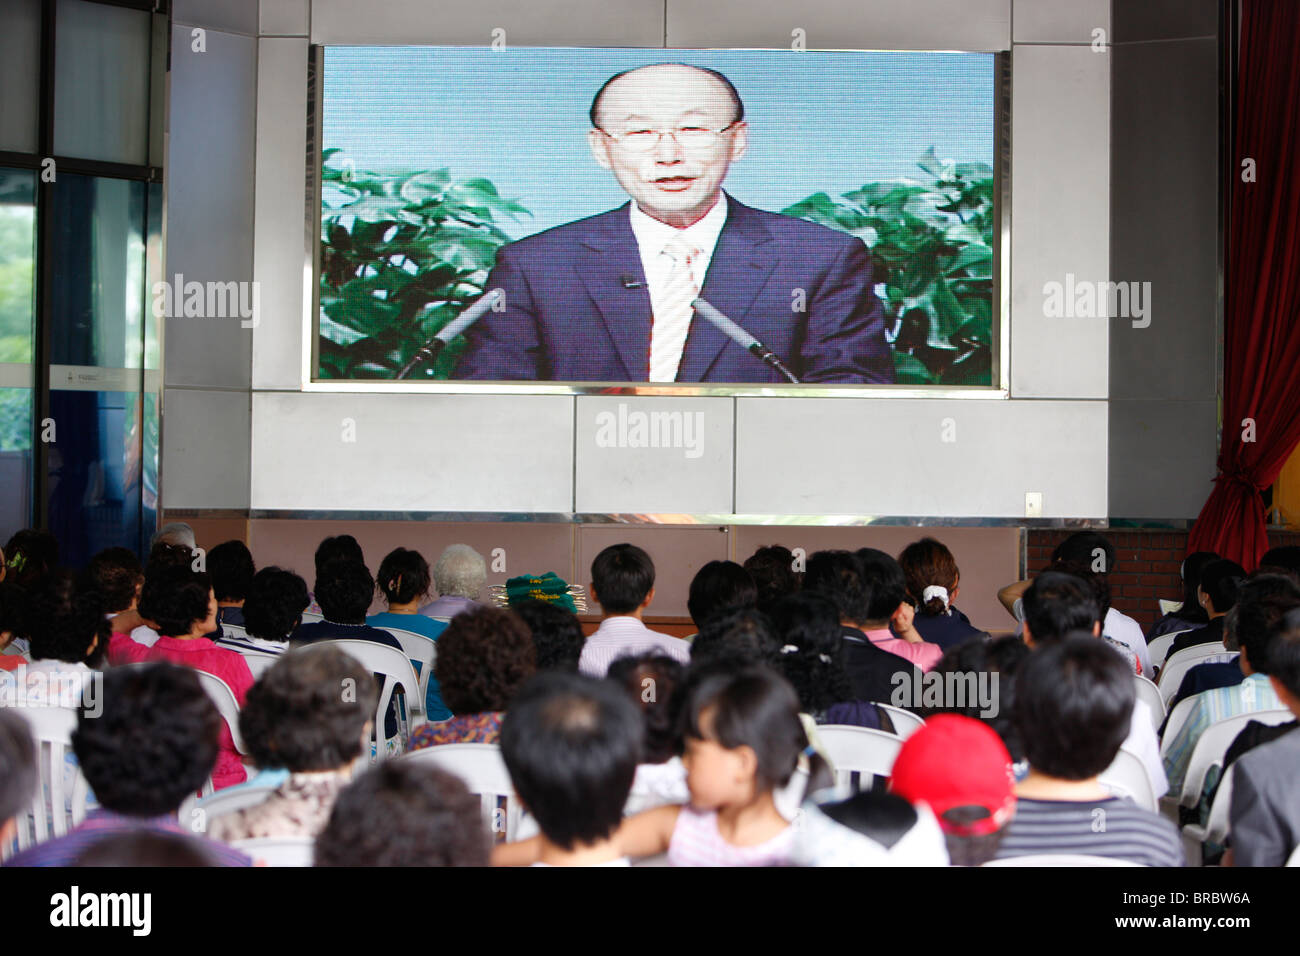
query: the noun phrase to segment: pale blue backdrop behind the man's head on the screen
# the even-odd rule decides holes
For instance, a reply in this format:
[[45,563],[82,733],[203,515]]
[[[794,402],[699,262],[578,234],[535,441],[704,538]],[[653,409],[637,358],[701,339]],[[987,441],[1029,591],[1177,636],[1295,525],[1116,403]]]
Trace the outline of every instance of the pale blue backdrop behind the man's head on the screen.
[[991,53],[329,47],[322,146],[361,169],[488,178],[533,212],[500,224],[521,238],[627,202],[592,159],[586,112],[610,75],[647,62],[736,85],[750,140],[724,189],[762,209],[922,176],[931,146],[993,164]]

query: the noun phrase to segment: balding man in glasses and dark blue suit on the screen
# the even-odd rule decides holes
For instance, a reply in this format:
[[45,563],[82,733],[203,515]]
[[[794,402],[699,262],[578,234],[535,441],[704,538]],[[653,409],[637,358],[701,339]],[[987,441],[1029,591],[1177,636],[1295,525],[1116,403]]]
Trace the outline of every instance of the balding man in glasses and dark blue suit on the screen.
[[504,308],[465,333],[455,377],[784,381],[694,315],[702,295],[800,381],[893,382],[866,246],[723,191],[744,116],[714,70],[654,64],[606,81],[588,142],[632,202],[503,246],[488,289]]

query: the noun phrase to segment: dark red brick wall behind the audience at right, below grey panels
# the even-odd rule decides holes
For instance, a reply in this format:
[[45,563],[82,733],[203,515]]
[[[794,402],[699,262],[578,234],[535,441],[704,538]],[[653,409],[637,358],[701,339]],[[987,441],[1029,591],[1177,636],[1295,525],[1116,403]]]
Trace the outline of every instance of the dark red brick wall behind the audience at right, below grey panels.
[[[1027,559],[1031,575],[1046,567],[1054,549],[1072,531],[1031,528]],[[1157,601],[1178,601],[1183,584],[1178,570],[1187,554],[1186,531],[1110,528],[1104,532],[1115,546],[1115,572],[1110,576],[1110,602],[1145,631],[1160,619]],[[1300,544],[1300,533],[1270,532],[1269,546]]]

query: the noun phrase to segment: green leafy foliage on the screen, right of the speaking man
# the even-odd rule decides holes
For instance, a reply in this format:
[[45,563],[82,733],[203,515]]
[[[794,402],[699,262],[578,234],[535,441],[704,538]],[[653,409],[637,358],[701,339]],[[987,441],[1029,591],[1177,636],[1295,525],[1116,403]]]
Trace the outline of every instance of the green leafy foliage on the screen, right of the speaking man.
[[993,170],[950,163],[931,147],[924,178],[826,193],[783,209],[857,235],[885,284],[897,329],[894,372],[909,385],[989,385],[993,345]]

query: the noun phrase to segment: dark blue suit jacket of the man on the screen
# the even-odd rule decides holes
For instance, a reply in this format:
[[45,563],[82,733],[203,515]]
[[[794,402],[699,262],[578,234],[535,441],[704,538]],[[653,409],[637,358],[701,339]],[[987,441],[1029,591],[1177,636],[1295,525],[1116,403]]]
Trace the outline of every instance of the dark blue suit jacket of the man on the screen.
[[[893,382],[878,281],[861,239],[727,196],[701,295],[806,382]],[[503,246],[488,289],[506,308],[465,333],[456,378],[644,382],[650,290],[630,203]],[[632,284],[636,287],[627,287]],[[794,290],[806,308],[792,310]],[[780,382],[781,376],[694,317],[677,381]]]

